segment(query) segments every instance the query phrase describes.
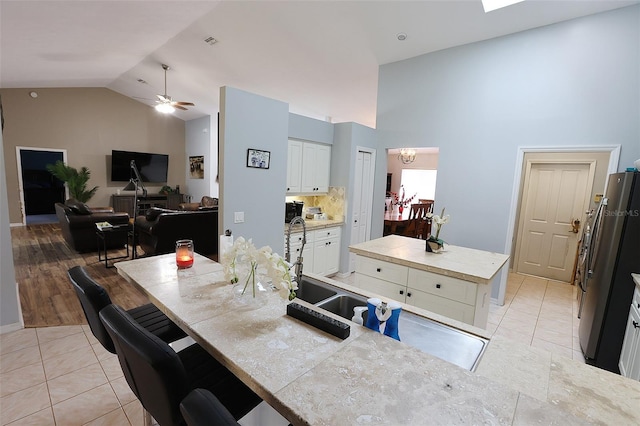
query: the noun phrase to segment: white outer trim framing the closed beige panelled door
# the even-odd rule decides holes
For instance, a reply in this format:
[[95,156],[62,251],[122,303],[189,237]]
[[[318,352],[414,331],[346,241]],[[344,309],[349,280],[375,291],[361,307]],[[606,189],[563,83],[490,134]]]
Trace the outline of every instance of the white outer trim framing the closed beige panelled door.
[[[516,218],[518,217],[518,210],[520,206],[520,198],[522,193],[520,185],[522,184],[523,170],[524,170],[524,155],[529,152],[544,152],[544,153],[562,153],[562,152],[608,152],[609,153],[609,166],[607,175],[616,173],[618,171],[618,163],[620,162],[620,145],[592,145],[592,146],[536,146],[536,147],[518,147],[515,171],[513,174],[513,188],[511,190],[511,206],[509,207],[509,222],[507,223],[507,238],[505,241],[505,253],[511,254],[513,251],[514,238],[517,233]],[[606,188],[605,188],[606,189]],[[513,269],[513,259],[509,264],[509,270]],[[508,273],[503,273],[500,278],[500,287],[498,290],[498,298],[496,303],[498,305],[504,305],[504,297],[507,291],[507,279]]]

